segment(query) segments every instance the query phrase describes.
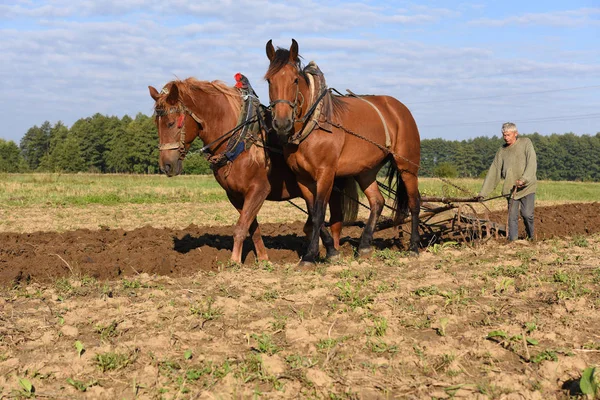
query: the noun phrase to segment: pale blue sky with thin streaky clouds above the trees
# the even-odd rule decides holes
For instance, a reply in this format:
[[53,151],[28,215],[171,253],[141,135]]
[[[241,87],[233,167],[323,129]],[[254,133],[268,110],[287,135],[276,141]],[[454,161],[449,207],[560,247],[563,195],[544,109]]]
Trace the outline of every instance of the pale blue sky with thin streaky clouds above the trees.
[[2,0],[0,138],[95,113],[150,115],[194,76],[263,103],[265,44],[298,41],[339,91],[388,94],[424,139],[600,132],[600,1]]

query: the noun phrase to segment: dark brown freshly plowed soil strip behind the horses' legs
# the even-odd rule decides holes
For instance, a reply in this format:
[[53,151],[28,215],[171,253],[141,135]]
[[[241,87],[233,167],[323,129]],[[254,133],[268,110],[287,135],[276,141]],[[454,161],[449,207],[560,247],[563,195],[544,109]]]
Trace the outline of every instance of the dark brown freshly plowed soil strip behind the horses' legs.
[[[538,207],[535,212],[538,240],[600,232],[597,202]],[[505,223],[506,214],[496,212],[490,219]],[[520,222],[521,230],[522,225]],[[261,225],[272,262],[292,263],[300,259],[306,245],[302,227],[301,222]],[[0,285],[48,282],[73,273],[102,280],[143,272],[182,277],[217,270],[231,255],[232,231],[232,227],[190,225],[183,230],[146,226],[132,231],[0,233]],[[344,228],[343,254],[352,253],[360,233],[358,227]],[[394,229],[378,232],[375,247],[403,250],[406,243],[395,240],[396,237]],[[424,240],[423,246],[426,244]],[[244,244],[244,262],[255,262],[250,239]]]

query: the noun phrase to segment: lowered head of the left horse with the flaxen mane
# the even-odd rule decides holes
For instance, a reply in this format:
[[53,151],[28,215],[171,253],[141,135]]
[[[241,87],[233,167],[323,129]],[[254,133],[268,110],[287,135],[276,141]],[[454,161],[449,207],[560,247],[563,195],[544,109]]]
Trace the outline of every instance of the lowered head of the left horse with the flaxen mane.
[[148,86],[154,99],[154,123],[158,129],[159,166],[168,176],[179,175],[183,159],[201,129],[200,122],[185,106],[177,81],[169,82],[158,92]]

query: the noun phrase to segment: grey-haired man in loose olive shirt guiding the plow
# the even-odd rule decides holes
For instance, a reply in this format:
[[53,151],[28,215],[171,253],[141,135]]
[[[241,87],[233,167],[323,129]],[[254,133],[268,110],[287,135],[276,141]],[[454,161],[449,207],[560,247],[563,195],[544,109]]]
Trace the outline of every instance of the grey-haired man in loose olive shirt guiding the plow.
[[512,122],[502,125],[505,144],[498,150],[488,171],[478,198],[489,195],[504,179],[502,195],[508,197],[508,240],[516,240],[519,233],[519,209],[527,238],[534,238],[533,206],[537,187],[537,161],[533,144],[528,138],[519,138]]

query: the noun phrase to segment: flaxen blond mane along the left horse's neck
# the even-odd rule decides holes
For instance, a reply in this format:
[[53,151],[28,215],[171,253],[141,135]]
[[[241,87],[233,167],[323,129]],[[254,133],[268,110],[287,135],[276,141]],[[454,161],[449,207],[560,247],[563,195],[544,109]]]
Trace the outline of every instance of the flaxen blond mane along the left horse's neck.
[[[224,95],[227,99],[229,105],[234,111],[239,111],[242,107],[242,97],[240,96],[240,92],[235,87],[230,87],[225,84],[223,81],[200,81],[196,78],[190,77],[184,80],[174,80],[165,85],[167,89],[170,89],[173,85],[177,86],[179,90],[179,100],[182,101],[184,98],[191,99],[192,103],[196,106],[196,97],[194,96],[195,91],[200,91],[206,93],[211,96],[215,95]],[[155,108],[159,108],[160,106],[164,106],[163,104],[166,100],[159,99],[156,103]]]

